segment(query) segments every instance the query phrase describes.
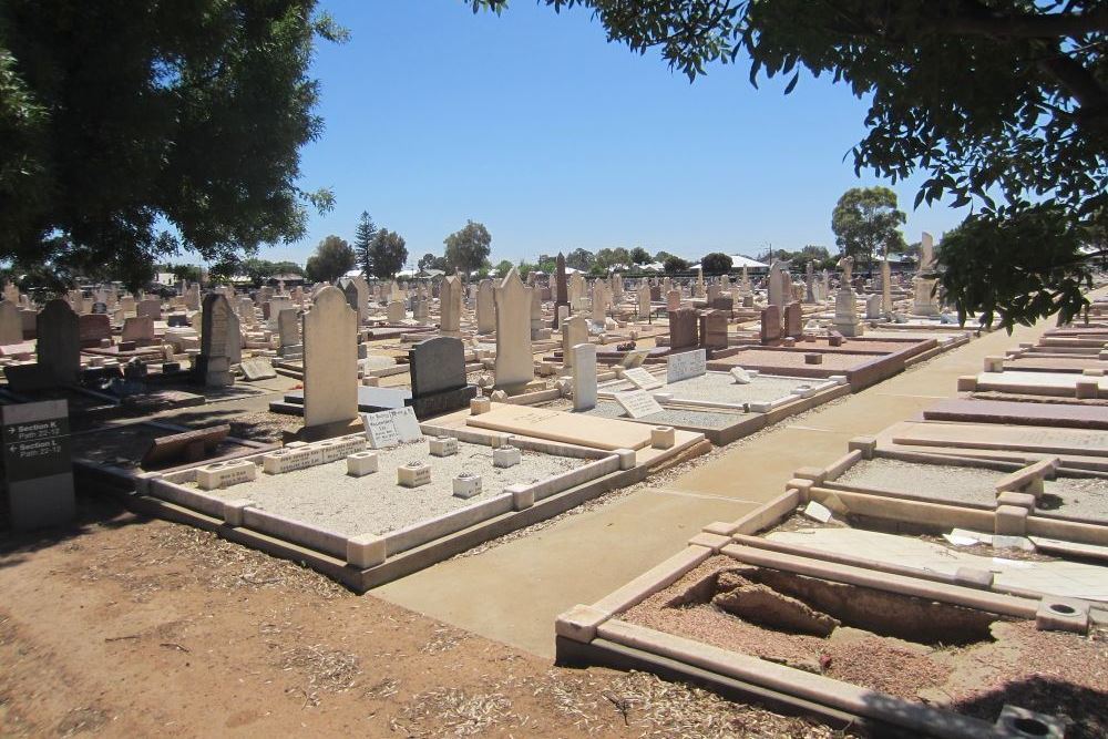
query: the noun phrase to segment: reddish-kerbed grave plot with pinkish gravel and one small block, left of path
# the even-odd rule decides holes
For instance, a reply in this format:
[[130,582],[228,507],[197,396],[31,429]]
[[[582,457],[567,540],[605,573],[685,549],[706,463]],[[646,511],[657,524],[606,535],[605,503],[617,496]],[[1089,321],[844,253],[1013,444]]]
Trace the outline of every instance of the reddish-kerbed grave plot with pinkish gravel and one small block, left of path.
[[902,372],[904,356],[743,348],[733,355],[708,362],[708,369],[720,372],[729,371],[733,367],[784,377],[830,379],[834,376],[845,376],[851,389],[856,392]]

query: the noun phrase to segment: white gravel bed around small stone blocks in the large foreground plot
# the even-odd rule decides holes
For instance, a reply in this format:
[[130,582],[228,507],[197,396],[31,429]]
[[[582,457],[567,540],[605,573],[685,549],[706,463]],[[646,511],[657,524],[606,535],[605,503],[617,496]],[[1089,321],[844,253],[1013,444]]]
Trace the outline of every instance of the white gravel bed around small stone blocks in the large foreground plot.
[[[383,535],[500,495],[504,487],[530,484],[583,466],[592,460],[524,450],[512,468],[494,468],[492,449],[459,442],[458,453],[431,456],[427,441],[376,450],[378,471],[347,475],[346,460],[284,474],[258,471],[257,480],[206,491],[228,500],[247,497],[256,507],[345,536]],[[420,487],[397,484],[397,468],[409,462],[431,464],[431,482]],[[481,475],[481,493],[454,497],[452,481],[462,472]],[[196,489],[195,483],[186,486]]]

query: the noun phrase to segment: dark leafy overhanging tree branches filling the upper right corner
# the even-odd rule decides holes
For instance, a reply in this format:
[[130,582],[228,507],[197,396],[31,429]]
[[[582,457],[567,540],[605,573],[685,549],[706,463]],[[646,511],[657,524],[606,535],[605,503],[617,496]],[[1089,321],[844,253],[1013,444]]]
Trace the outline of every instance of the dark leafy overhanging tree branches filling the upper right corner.
[[[1017,321],[1085,305],[1070,280],[1087,280],[1091,265],[1068,264],[1060,247],[1064,234],[1102,230],[1108,220],[1105,0],[540,1],[592,9],[611,41],[656,49],[689,80],[712,63],[747,61],[753,84],[784,75],[786,93],[802,69],[845,83],[870,105],[868,133],[852,151],[856,173],[893,182],[922,173],[916,205],[973,204],[973,228],[1063,239],[1045,249],[1063,260],[1045,271],[1030,243],[940,257],[945,270],[1034,271],[1049,300],[1013,300],[1012,284],[968,291],[967,271],[944,280],[948,297],[968,312],[993,306]],[[471,4],[499,11],[506,0]],[[1065,218],[1067,229],[1025,227],[1050,207],[1048,219]]]

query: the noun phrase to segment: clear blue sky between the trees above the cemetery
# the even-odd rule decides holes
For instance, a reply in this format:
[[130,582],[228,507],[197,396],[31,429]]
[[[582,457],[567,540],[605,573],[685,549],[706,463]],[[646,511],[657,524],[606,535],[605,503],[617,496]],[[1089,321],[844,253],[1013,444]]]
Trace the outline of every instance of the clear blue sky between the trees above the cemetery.
[[[854,176],[865,105],[844,85],[806,75],[784,96],[782,80],[755,90],[743,63],[689,84],[656,52],[608,43],[587,12],[529,0],[501,16],[462,0],[321,8],[351,39],[318,48],[326,129],[302,152],[302,186],[330,187],[336,207],[264,258],[302,263],[328,234],[352,238],[362,211],[407,239],[412,264],[468,218],[488,226],[493,261],[833,247],[839,196],[889,184]],[[909,242],[964,217],[913,211],[917,183],[894,186]]]

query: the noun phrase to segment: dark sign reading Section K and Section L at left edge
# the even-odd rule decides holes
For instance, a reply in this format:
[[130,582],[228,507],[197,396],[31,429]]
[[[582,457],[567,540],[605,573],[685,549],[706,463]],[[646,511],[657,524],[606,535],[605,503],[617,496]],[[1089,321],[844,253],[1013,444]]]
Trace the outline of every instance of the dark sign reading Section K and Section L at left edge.
[[[65,308],[72,310],[68,304]],[[66,401],[3,406],[0,423],[11,527],[27,531],[72,521],[76,501]]]

